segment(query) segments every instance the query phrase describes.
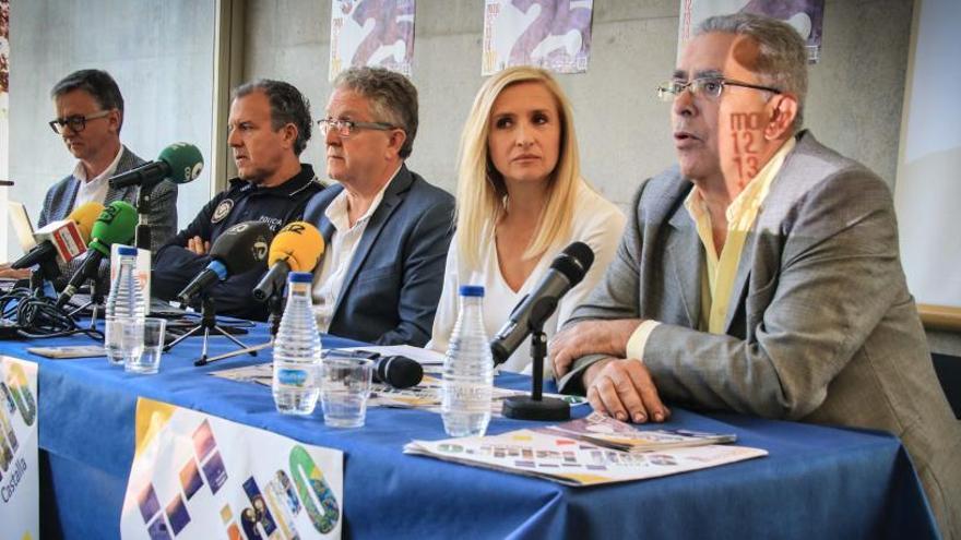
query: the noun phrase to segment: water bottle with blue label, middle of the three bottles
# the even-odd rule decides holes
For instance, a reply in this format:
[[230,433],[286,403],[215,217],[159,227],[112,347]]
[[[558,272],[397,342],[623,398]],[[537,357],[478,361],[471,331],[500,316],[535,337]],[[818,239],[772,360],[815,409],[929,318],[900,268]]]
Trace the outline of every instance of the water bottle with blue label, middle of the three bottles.
[[284,415],[310,415],[317,406],[320,334],[313,319],[308,272],[287,275],[287,305],[274,341],[274,404]]

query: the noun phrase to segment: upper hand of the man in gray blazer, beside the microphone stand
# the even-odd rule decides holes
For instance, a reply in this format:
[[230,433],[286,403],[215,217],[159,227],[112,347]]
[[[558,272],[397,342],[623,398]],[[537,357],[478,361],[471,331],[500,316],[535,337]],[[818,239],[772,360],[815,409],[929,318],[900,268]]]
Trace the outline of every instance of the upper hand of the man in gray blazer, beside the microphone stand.
[[547,345],[547,357],[554,365],[555,376],[562,377],[574,360],[583,356],[626,357],[627,340],[640,324],[640,319],[588,321],[557,333]]

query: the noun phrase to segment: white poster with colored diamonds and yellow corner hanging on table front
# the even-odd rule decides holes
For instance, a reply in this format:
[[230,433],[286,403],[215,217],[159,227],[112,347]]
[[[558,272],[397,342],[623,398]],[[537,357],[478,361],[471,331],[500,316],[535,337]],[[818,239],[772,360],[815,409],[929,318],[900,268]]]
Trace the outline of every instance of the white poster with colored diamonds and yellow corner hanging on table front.
[[124,539],[341,538],[344,456],[139,398]]

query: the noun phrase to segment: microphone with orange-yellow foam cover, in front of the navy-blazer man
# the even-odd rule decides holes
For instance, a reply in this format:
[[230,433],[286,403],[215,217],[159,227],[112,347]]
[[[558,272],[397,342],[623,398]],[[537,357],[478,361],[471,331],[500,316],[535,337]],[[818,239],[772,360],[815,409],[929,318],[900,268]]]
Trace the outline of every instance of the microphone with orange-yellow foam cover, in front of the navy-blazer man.
[[284,288],[290,272],[313,272],[323,254],[323,237],[307,221],[287,224],[271,242],[263,279],[253,288],[253,298],[260,302]]

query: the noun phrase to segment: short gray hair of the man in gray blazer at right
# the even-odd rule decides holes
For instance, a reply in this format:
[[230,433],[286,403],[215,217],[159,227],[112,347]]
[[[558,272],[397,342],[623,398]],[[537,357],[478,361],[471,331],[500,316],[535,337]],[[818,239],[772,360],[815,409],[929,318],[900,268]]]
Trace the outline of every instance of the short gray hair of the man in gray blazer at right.
[[800,35],[787,23],[751,13],[712,16],[698,26],[695,35],[712,32],[747,36],[758,44],[755,72],[764,85],[797,96],[793,129],[799,131],[807,95],[807,51]]

